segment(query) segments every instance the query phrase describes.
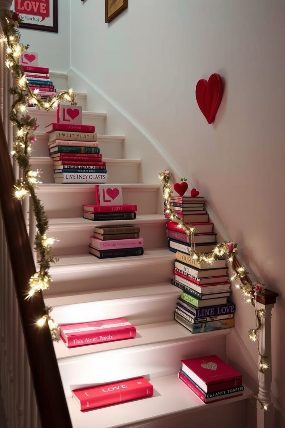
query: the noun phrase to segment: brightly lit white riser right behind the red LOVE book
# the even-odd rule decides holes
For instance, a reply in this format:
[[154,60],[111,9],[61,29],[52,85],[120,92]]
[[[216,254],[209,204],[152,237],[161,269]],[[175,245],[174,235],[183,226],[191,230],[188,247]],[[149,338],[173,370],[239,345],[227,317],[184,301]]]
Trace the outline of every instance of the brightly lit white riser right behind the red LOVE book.
[[[132,341],[127,339],[124,342]],[[112,342],[114,348],[120,346],[118,341]],[[177,340],[167,344],[149,344],[132,348],[100,351],[96,354],[81,355],[58,360],[59,371],[66,398],[71,397],[71,389],[91,386],[96,383],[111,383],[120,379],[146,376],[150,380],[155,377],[173,375],[181,368],[180,360],[211,353],[219,354],[225,350],[225,338],[188,342]]]

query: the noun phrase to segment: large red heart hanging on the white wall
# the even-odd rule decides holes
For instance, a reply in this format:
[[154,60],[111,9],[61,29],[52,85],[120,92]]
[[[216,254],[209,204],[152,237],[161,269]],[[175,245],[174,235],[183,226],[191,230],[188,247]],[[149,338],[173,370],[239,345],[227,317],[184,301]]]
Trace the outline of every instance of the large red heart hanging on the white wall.
[[198,80],[196,85],[196,100],[206,117],[207,122],[213,123],[223,96],[223,81],[220,74],[211,74],[209,80]]

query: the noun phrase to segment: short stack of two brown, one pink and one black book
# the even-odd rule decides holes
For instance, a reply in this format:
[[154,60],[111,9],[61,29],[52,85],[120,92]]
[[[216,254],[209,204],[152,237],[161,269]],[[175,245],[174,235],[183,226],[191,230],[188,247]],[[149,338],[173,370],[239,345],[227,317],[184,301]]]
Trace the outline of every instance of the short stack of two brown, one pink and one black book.
[[98,259],[142,256],[144,239],[136,226],[95,227],[90,237],[89,253]]

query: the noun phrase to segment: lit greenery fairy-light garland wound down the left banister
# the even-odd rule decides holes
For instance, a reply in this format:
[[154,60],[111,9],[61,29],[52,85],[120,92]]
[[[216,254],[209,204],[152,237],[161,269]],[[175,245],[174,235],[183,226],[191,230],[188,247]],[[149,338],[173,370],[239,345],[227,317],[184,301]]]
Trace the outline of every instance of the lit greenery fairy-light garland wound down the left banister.
[[[55,238],[47,236],[48,219],[40,199],[35,189],[38,184],[41,172],[33,170],[30,163],[30,153],[32,144],[35,143],[35,130],[37,128],[36,119],[28,114],[27,107],[35,106],[38,110],[44,109],[50,111],[56,108],[60,101],[75,103],[75,95],[72,89],[61,92],[56,97],[43,99],[38,95],[38,90],[31,91],[27,83],[25,72],[18,63],[22,52],[29,48],[20,43],[20,33],[17,29],[22,21],[18,13],[11,10],[3,11],[1,16],[3,22],[3,33],[0,36],[0,42],[6,45],[6,67],[12,73],[14,86],[9,89],[13,96],[13,103],[9,114],[9,119],[16,128],[13,151],[11,155],[17,160],[18,166],[23,172],[23,178],[16,180],[14,185],[15,197],[19,200],[31,197],[33,212],[36,221],[35,251],[38,254],[38,271],[29,279],[29,292],[26,299],[31,298],[35,293],[46,290],[50,287],[52,278],[49,275],[49,268],[57,259],[53,257],[52,247],[57,241]],[[39,327],[48,323],[53,340],[59,340],[59,327],[56,322],[50,318],[52,308],[45,306],[44,314],[39,320],[35,320]]]

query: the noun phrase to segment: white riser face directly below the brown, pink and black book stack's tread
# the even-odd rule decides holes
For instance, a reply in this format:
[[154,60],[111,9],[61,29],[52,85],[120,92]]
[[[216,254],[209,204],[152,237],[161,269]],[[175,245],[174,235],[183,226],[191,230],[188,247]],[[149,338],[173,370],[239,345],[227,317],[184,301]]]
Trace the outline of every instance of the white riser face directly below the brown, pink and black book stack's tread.
[[140,257],[143,258],[143,256],[135,256],[134,259],[138,259],[137,263],[128,265],[127,269],[123,267],[123,259],[129,259],[129,257],[117,258],[116,261],[114,259],[113,265],[101,268],[100,260],[94,256],[97,263],[92,265],[91,269],[88,266],[88,270],[82,268],[82,271],[71,271],[66,275],[51,270],[53,282],[44,295],[48,297],[49,295],[94,291],[102,288],[135,287],[136,285],[170,282],[173,277],[172,260],[165,261],[162,258],[160,263],[139,263]]

